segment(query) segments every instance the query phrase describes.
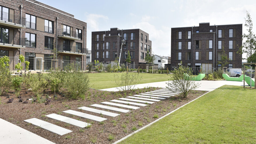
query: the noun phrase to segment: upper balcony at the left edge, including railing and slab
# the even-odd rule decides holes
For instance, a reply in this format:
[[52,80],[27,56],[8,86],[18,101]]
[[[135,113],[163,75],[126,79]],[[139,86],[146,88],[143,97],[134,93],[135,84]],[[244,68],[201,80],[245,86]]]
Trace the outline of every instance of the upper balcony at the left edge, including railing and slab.
[[0,25],[14,27],[14,28],[26,28],[26,18],[19,15],[9,14],[2,12],[0,16]]

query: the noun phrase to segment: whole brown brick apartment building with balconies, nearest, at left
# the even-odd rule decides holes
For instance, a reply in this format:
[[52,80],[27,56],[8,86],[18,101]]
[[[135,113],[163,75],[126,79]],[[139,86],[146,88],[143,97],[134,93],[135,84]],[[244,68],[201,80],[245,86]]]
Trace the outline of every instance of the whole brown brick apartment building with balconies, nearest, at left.
[[0,56],[10,57],[10,69],[19,54],[30,62],[30,70],[49,70],[53,48],[58,67],[74,62],[85,69],[87,24],[74,15],[34,0],[0,1]]

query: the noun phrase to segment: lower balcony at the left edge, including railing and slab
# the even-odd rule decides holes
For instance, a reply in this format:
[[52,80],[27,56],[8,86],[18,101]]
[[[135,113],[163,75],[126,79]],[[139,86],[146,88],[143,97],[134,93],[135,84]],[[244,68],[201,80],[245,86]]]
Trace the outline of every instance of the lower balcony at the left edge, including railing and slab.
[[12,47],[12,48],[25,48],[26,38],[19,38],[1,34],[0,35],[0,46],[1,47]]

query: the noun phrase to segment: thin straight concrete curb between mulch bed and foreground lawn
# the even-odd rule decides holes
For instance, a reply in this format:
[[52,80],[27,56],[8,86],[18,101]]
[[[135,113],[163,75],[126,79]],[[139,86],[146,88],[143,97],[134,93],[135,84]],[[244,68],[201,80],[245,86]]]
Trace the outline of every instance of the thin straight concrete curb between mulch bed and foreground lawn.
[[[209,92],[211,92],[211,91],[208,91],[207,93],[209,93]],[[205,93],[205,94],[207,94],[207,93]],[[203,94],[203,95],[205,95],[205,94]],[[203,95],[201,95],[200,97],[202,97]],[[200,98],[200,97],[198,97],[198,98]],[[196,98],[196,99],[198,99],[198,98]],[[191,103],[191,102],[195,101],[196,99],[193,99],[192,101],[190,101],[190,102],[186,103],[185,105],[187,105],[187,104],[189,104],[189,103]],[[183,105],[183,106],[185,106],[185,105]],[[155,120],[155,121],[153,121],[153,122],[149,123],[148,125],[146,125],[146,126],[144,126],[144,127],[141,127],[140,129],[138,129],[138,130],[136,130],[136,131],[132,132],[131,134],[129,134],[129,135],[127,135],[127,136],[125,136],[125,137],[123,137],[123,138],[119,139],[118,141],[114,142],[113,144],[117,144],[117,143],[119,143],[119,142],[123,141],[124,139],[127,139],[128,137],[132,136],[133,134],[135,134],[135,133],[137,133],[137,132],[139,132],[139,131],[141,131],[141,130],[143,130],[143,129],[145,129],[145,128],[149,127],[149,126],[151,126],[153,123],[155,123],[155,122],[159,121],[160,119],[162,119],[162,118],[166,117],[167,115],[170,115],[171,113],[175,112],[176,110],[180,109],[180,108],[181,108],[181,107],[183,107],[183,106],[180,106],[179,108],[177,108],[177,109],[175,109],[175,110],[171,111],[170,113],[168,113],[168,114],[164,115],[163,117],[160,117],[159,119],[157,119],[157,120]]]

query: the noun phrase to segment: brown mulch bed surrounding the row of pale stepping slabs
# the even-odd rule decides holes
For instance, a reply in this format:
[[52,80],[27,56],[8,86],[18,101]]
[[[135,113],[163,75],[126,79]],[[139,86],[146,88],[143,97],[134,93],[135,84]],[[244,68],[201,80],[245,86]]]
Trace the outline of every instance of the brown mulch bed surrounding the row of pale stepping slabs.
[[[175,97],[166,98],[159,102],[155,102],[151,105],[149,104],[145,107],[139,106],[139,109],[131,110],[131,112],[128,113],[119,113],[116,111],[101,109],[113,113],[119,113],[120,116],[117,117],[109,117],[106,115],[101,116],[100,114],[77,109],[78,107],[90,107],[89,105],[92,104],[100,104],[100,102],[110,101],[113,99],[118,99],[129,95],[132,96],[134,94],[144,93],[156,89],[158,88],[136,89],[126,95],[125,93],[119,91],[106,92],[90,89],[88,90],[84,100],[82,100],[81,98],[73,100],[68,97],[62,97],[62,95],[60,95],[59,93],[57,94],[57,98],[54,98],[54,93],[52,93],[50,90],[46,90],[45,94],[48,94],[51,97],[49,98],[51,100],[49,102],[49,105],[37,102],[34,102],[32,104],[31,101],[28,101],[28,103],[18,102],[19,98],[17,98],[15,94],[13,94],[13,91],[10,91],[9,93],[4,93],[1,96],[2,104],[0,104],[0,118],[9,121],[17,126],[20,126],[28,131],[31,131],[32,133],[40,135],[41,137],[46,138],[54,143],[113,143],[125,137],[126,135],[132,133],[136,129],[140,129],[148,123],[155,121],[157,118],[153,118],[154,115],[156,116],[157,114],[158,118],[160,118],[163,115],[177,109],[178,107],[192,101],[193,99],[207,92],[192,91],[192,93],[189,94],[187,98],[182,98],[176,95]],[[62,90],[62,93],[64,92],[65,90]],[[9,96],[10,98],[7,98],[7,96]],[[33,93],[23,88],[20,92],[20,96],[24,101],[28,98],[33,97]],[[11,98],[14,99],[13,102],[7,103],[7,101]],[[62,111],[69,109],[81,111],[83,113],[92,114],[99,117],[104,117],[107,118],[107,120],[105,120],[102,123],[74,116],[71,114],[62,113]],[[80,121],[92,123],[92,126],[89,128],[82,129],[77,126],[69,125],[67,123],[45,117],[45,115],[52,113],[61,114],[66,117],[71,117],[73,119],[78,119]],[[72,130],[73,132],[60,136],[50,131],[41,129],[40,127],[30,125],[29,123],[23,121],[25,119],[30,118],[38,118],[53,123],[55,125],[64,127],[66,129]],[[142,125],[139,126],[138,123],[142,123]],[[109,135],[113,136],[114,139],[109,140]]]

